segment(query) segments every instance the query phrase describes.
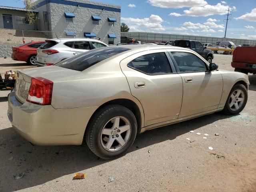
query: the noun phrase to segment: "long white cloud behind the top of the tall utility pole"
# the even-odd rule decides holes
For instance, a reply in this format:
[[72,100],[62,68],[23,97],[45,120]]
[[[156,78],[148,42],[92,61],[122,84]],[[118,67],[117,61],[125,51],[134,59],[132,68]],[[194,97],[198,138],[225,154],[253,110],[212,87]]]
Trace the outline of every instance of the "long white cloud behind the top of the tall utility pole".
[[[184,10],[184,16],[210,16],[210,15],[224,15],[228,6],[220,3],[216,5],[205,5],[198,7],[191,7],[189,10]],[[236,10],[236,7],[232,7],[232,10]]]

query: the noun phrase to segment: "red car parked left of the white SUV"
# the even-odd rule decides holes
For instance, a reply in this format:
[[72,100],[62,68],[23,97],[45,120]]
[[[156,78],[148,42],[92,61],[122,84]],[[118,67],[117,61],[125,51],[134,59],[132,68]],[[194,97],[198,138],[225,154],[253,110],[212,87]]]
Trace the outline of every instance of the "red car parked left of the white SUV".
[[45,41],[31,41],[17,47],[12,47],[12,59],[36,65],[36,50],[44,43]]

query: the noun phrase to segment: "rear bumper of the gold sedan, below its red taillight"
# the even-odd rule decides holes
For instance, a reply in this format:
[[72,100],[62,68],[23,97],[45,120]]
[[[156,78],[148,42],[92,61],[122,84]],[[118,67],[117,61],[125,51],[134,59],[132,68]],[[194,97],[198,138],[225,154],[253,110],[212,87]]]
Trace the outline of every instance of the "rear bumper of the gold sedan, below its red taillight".
[[80,145],[97,107],[55,109],[20,103],[14,92],[8,96],[8,118],[13,128],[35,145]]

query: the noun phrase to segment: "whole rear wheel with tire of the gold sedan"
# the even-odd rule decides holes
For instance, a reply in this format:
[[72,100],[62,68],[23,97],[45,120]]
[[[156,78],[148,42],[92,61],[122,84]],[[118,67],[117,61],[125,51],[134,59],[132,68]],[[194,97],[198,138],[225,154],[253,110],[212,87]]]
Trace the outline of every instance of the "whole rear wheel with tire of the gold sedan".
[[86,144],[102,159],[126,154],[137,134],[134,114],[124,106],[108,105],[96,112],[86,128]]

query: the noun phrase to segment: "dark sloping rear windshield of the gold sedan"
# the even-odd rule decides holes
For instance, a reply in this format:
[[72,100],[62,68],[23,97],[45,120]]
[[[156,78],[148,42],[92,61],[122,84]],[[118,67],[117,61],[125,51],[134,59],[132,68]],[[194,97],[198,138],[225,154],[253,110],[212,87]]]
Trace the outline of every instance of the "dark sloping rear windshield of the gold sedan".
[[130,49],[122,47],[98,48],[63,60],[59,63],[56,63],[55,66],[76,71],[83,71],[89,68],[90,66],[93,66],[98,62],[101,62],[102,60],[105,60],[107,58],[110,58],[111,56],[128,50]]

